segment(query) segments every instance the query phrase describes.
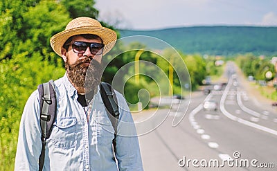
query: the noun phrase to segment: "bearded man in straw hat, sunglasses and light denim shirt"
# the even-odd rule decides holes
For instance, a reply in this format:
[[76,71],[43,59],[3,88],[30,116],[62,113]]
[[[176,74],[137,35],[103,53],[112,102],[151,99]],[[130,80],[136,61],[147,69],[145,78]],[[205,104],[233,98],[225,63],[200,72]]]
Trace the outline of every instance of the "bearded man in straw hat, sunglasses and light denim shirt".
[[[99,63],[115,42],[114,30],[88,17],[73,19],[64,31],[51,37],[53,51],[65,62],[66,74],[55,80],[57,116],[46,141],[44,170],[143,170],[134,122],[117,91],[120,116],[113,159],[114,132],[99,92]],[[93,92],[89,99],[85,96],[88,91]],[[38,91],[34,91],[21,118],[15,170],[39,168],[39,103]]]

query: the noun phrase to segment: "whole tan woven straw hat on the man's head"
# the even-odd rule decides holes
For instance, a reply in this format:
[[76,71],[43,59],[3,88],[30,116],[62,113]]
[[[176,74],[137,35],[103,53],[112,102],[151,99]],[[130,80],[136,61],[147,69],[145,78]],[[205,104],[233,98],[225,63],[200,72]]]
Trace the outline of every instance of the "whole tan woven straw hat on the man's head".
[[105,47],[103,55],[108,53],[116,43],[116,32],[109,28],[102,27],[99,21],[89,17],[75,18],[67,24],[64,31],[53,35],[50,44],[57,55],[62,56],[62,46],[69,37],[73,35],[93,34],[101,37]]

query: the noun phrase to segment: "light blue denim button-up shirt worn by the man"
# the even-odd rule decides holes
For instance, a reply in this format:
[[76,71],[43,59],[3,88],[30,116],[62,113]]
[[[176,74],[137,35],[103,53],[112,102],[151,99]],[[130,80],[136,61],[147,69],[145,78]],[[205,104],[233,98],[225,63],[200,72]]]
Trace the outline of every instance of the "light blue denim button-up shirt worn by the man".
[[[85,111],[77,101],[77,91],[66,74],[55,81],[55,91],[57,116],[51,136],[46,141],[44,170],[143,170],[134,121],[120,93],[116,91],[120,112],[116,162],[112,150],[114,128],[100,92],[96,93],[88,111]],[[41,134],[39,94],[36,90],[28,98],[21,116],[15,170],[38,170]]]

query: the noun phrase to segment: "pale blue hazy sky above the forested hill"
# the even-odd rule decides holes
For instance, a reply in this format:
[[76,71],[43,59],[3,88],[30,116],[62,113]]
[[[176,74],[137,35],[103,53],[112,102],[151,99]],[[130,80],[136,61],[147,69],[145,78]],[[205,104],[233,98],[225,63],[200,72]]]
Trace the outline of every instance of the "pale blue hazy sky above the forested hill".
[[277,26],[277,0],[96,0],[101,21],[116,28]]

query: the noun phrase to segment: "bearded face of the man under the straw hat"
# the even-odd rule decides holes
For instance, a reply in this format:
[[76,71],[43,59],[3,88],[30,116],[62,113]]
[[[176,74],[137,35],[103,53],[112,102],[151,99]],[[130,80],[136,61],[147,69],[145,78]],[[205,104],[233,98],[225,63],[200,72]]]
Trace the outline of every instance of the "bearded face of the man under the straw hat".
[[[77,45],[82,44],[84,46],[78,46],[73,49],[73,42],[78,42]],[[96,53],[96,55],[94,55],[95,51],[91,53],[93,50],[90,50],[86,43],[101,44],[102,41],[101,39],[86,39],[81,36],[75,36],[69,45],[68,51],[62,48],[62,58],[64,59],[67,69],[67,76],[76,88],[84,89],[84,87],[89,86],[89,89],[96,89],[101,77],[102,70],[100,62],[102,60],[102,54]],[[87,48],[85,48],[85,46],[87,46]],[[76,53],[80,51],[83,53]]]

